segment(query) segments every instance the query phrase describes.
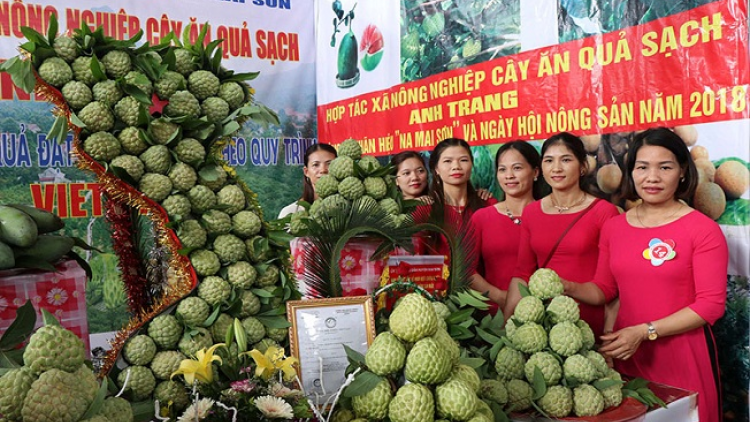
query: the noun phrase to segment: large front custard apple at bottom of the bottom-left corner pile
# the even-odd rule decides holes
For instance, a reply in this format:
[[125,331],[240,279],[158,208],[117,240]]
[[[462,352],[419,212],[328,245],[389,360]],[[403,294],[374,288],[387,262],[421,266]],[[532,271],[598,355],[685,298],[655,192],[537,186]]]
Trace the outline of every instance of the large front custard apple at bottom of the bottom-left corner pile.
[[31,384],[21,409],[24,422],[77,422],[89,407],[76,376],[60,369],[42,373]]

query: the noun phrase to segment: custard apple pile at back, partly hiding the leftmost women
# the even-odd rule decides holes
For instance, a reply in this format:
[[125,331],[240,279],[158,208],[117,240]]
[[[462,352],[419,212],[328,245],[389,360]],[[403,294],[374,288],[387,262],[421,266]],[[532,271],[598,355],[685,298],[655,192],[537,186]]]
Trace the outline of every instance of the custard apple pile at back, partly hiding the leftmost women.
[[399,192],[392,180],[393,168],[383,167],[373,156],[362,156],[362,147],[354,139],[342,142],[338,156],[331,161],[328,174],[315,184],[318,200],[308,211],[300,211],[291,217],[291,231],[301,234],[308,215],[322,220],[346,213],[354,201],[378,204],[379,208],[394,217],[395,224],[403,224],[407,214],[401,203]]

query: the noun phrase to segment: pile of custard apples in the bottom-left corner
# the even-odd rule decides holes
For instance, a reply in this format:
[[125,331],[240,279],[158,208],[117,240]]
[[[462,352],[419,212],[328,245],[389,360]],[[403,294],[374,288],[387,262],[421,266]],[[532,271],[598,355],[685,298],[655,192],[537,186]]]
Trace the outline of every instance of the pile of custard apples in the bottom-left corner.
[[130,403],[104,397],[106,389],[84,363],[83,342],[55,323],[34,332],[23,352],[23,366],[0,377],[0,419],[132,422]]

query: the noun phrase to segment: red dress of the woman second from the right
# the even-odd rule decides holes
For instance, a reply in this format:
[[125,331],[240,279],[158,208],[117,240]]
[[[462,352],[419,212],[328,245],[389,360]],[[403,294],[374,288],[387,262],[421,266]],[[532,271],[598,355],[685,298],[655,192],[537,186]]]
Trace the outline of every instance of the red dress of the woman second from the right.
[[[541,200],[523,210],[521,245],[513,277],[529,280],[547,257],[578,213],[546,214]],[[555,270],[568,281],[585,283],[594,279],[599,257],[599,232],[604,222],[618,214],[617,208],[604,200],[595,200],[586,215],[575,223],[557,247],[546,268]],[[597,338],[604,329],[604,307],[581,304],[581,319],[588,322]]]

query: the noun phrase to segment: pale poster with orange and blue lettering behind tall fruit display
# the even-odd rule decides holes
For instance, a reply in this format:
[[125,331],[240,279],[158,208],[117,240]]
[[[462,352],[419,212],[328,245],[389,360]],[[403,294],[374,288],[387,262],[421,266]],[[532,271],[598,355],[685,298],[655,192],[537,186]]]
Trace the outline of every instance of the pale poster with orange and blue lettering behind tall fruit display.
[[[208,38],[226,40],[221,44],[224,65],[237,72],[260,71],[251,82],[255,98],[279,115],[278,126],[246,124],[223,151],[224,159],[258,194],[267,217],[273,218],[301,194],[304,151],[317,142],[314,32],[309,19],[314,10],[312,4],[294,0],[255,3],[259,2],[2,2],[0,62],[18,54],[24,42],[21,26],[45,33],[51,13],[58,16],[61,33],[86,22],[92,30],[101,25],[105,35],[117,39],[143,30],[141,42],[154,44],[170,31],[182,37],[190,23],[198,29],[208,22]],[[47,137],[54,122],[51,110],[50,104],[17,89],[8,74],[0,73],[0,203],[53,211],[65,222],[61,234],[80,237],[102,250],[82,253],[93,271],[86,287],[90,331],[119,330],[128,320],[128,309],[103,217],[102,193],[94,177],[79,170],[70,157],[72,135],[62,142]],[[279,189],[279,184],[289,188]]]

